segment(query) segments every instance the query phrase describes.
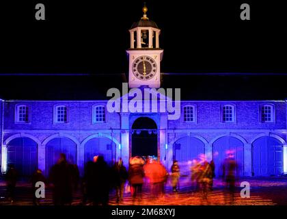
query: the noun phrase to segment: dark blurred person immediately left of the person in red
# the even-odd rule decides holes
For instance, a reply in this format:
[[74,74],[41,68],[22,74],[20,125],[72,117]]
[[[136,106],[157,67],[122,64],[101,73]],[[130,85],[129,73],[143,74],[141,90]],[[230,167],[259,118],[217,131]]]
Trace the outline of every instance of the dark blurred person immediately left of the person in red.
[[124,184],[128,179],[128,171],[122,163],[122,158],[118,162],[115,162],[112,168],[113,175],[113,187],[115,188],[115,194],[117,196],[117,203],[122,201],[124,195]]

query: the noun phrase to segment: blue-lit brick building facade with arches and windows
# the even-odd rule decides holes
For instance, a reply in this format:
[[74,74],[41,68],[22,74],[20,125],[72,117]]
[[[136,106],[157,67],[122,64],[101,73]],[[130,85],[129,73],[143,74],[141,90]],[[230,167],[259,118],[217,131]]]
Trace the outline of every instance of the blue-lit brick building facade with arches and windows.
[[[37,167],[48,174],[59,152],[66,153],[81,174],[85,162],[98,154],[110,164],[119,157],[128,164],[132,136],[137,134],[133,124],[138,118],[150,118],[156,124],[156,157],[167,168],[178,159],[182,171],[188,171],[184,166],[204,153],[215,160],[220,175],[220,164],[231,150],[241,164],[241,175],[281,175],[286,171],[286,101],[182,101],[178,120],[168,120],[166,113],[109,113],[106,104],[3,101],[2,172],[14,163],[22,164],[25,174]],[[99,113],[98,106],[104,111]],[[226,113],[225,107],[230,106],[232,110]],[[26,112],[19,112],[19,107]],[[66,109],[64,121],[58,120],[58,107]],[[192,110],[187,112],[187,107]],[[231,117],[226,118],[229,113]],[[98,114],[104,116],[100,121],[95,120]]]

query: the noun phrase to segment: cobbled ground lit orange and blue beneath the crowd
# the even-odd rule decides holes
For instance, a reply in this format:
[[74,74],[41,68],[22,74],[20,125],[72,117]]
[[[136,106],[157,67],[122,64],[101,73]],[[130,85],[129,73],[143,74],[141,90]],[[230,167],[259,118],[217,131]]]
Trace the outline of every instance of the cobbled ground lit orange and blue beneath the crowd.
[[[232,205],[287,205],[287,178],[245,178],[251,186],[250,198],[241,198],[239,184]],[[32,205],[31,188],[27,183],[18,183],[16,188],[16,200],[13,204],[5,198],[5,183],[0,182],[0,205]],[[46,189],[46,198],[41,201],[42,205],[52,205],[51,190]],[[81,205],[81,192],[74,193],[72,205]],[[131,199],[131,194],[124,194],[124,200],[116,203],[115,192],[110,194],[110,205],[230,205],[230,198],[224,192],[223,183],[215,180],[214,189],[208,194],[207,200],[202,198],[200,192],[191,192],[189,179],[180,179],[180,192],[174,194],[167,183],[165,196],[151,198],[148,185],[143,187],[141,200]],[[89,204],[87,204],[89,205]]]

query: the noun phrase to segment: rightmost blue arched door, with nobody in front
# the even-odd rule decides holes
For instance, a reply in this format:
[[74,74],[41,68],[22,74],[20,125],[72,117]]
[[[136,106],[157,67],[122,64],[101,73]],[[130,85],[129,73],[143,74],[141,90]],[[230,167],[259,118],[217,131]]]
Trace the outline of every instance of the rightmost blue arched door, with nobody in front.
[[254,176],[283,173],[283,144],[273,137],[264,136],[252,144],[252,173]]

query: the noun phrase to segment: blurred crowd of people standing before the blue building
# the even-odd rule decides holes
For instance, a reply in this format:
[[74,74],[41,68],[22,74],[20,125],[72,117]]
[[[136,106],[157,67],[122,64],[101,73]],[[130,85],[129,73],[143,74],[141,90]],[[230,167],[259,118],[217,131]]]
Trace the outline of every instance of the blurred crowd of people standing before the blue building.
[[[224,160],[221,165],[223,181],[230,194],[231,202],[234,201],[235,182],[238,175],[238,164],[232,155]],[[191,165],[191,188],[192,192],[202,192],[202,198],[208,200],[208,193],[213,190],[213,179],[215,178],[215,163],[213,160],[207,162],[205,155],[194,159]],[[122,159],[109,166],[104,157],[95,156],[94,159],[85,164],[85,172],[80,178],[79,168],[75,164],[69,164],[66,155],[61,153],[57,164],[49,173],[47,179],[41,170],[36,170],[31,176],[33,192],[33,204],[39,205],[40,198],[36,197],[36,182],[42,181],[53,190],[54,205],[71,205],[73,193],[81,188],[83,194],[83,205],[108,205],[111,190],[115,191],[116,201],[123,201],[124,192],[131,192],[133,202],[141,201],[143,183],[148,185],[150,197],[160,198],[165,194],[165,185],[170,180],[172,191],[178,193],[180,190],[180,166],[174,160],[170,173],[165,166],[154,159],[142,157],[131,157],[128,169],[124,166]],[[17,171],[13,165],[9,166],[6,174],[7,192],[11,203],[15,197]]]

